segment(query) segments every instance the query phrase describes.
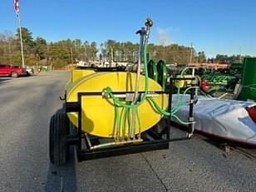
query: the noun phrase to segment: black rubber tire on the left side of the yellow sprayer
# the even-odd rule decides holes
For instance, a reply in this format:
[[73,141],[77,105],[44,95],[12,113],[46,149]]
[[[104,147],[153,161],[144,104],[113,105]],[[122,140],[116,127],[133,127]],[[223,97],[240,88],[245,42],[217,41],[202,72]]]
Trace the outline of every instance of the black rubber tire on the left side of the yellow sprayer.
[[68,145],[66,135],[68,134],[69,121],[66,113],[57,111],[50,121],[49,151],[50,160],[54,165],[65,165],[68,159]]

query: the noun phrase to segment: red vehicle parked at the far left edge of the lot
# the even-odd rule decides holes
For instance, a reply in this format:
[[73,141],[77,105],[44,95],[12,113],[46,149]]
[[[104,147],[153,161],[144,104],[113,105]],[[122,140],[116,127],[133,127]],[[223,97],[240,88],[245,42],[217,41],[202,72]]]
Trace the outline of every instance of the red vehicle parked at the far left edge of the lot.
[[22,66],[0,65],[0,76],[26,76],[27,71]]

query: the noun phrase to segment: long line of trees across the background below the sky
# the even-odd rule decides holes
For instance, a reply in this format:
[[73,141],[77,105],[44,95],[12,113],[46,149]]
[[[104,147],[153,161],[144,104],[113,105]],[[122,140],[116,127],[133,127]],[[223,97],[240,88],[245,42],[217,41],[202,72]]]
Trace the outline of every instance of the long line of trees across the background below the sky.
[[[137,62],[139,44],[134,42],[117,42],[107,40],[97,46],[96,42],[82,42],[80,39],[66,39],[58,42],[47,42],[43,37],[33,39],[32,32],[22,27],[22,42],[26,66],[47,65],[66,66],[78,61],[111,61]],[[151,59],[165,59],[167,63],[186,65],[190,62],[234,62],[243,57],[217,55],[207,59],[203,51],[196,52],[194,48],[171,44],[161,46],[150,43],[148,53]],[[12,63],[21,65],[21,45],[19,29],[0,33],[0,64]]]

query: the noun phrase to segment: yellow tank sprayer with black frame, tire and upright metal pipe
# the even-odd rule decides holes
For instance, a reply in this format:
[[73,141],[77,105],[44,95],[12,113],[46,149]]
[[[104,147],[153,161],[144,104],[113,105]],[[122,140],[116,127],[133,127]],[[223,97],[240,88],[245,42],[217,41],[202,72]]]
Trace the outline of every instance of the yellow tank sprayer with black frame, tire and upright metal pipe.
[[62,98],[65,104],[50,121],[53,164],[66,163],[70,145],[76,146],[78,160],[169,148],[170,117],[166,116],[179,107],[171,108],[171,94],[168,97],[163,86],[147,74],[146,43],[152,24],[147,19],[146,28],[137,32],[137,71],[119,67],[77,67],[71,71]]

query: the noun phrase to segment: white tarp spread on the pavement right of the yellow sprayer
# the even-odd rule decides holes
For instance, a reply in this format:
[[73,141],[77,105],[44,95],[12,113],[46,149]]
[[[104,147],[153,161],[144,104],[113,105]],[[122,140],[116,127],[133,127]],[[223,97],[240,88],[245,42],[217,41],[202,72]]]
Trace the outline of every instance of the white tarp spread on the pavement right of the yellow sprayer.
[[[198,96],[194,105],[195,130],[219,135],[231,140],[240,140],[256,145],[256,123],[250,118],[246,106],[256,106],[252,101],[235,101]],[[176,113],[182,120],[189,116],[190,96],[185,96],[186,105]],[[173,96],[173,106],[177,95]],[[175,120],[175,119],[174,119]],[[176,121],[176,120],[175,120]]]

